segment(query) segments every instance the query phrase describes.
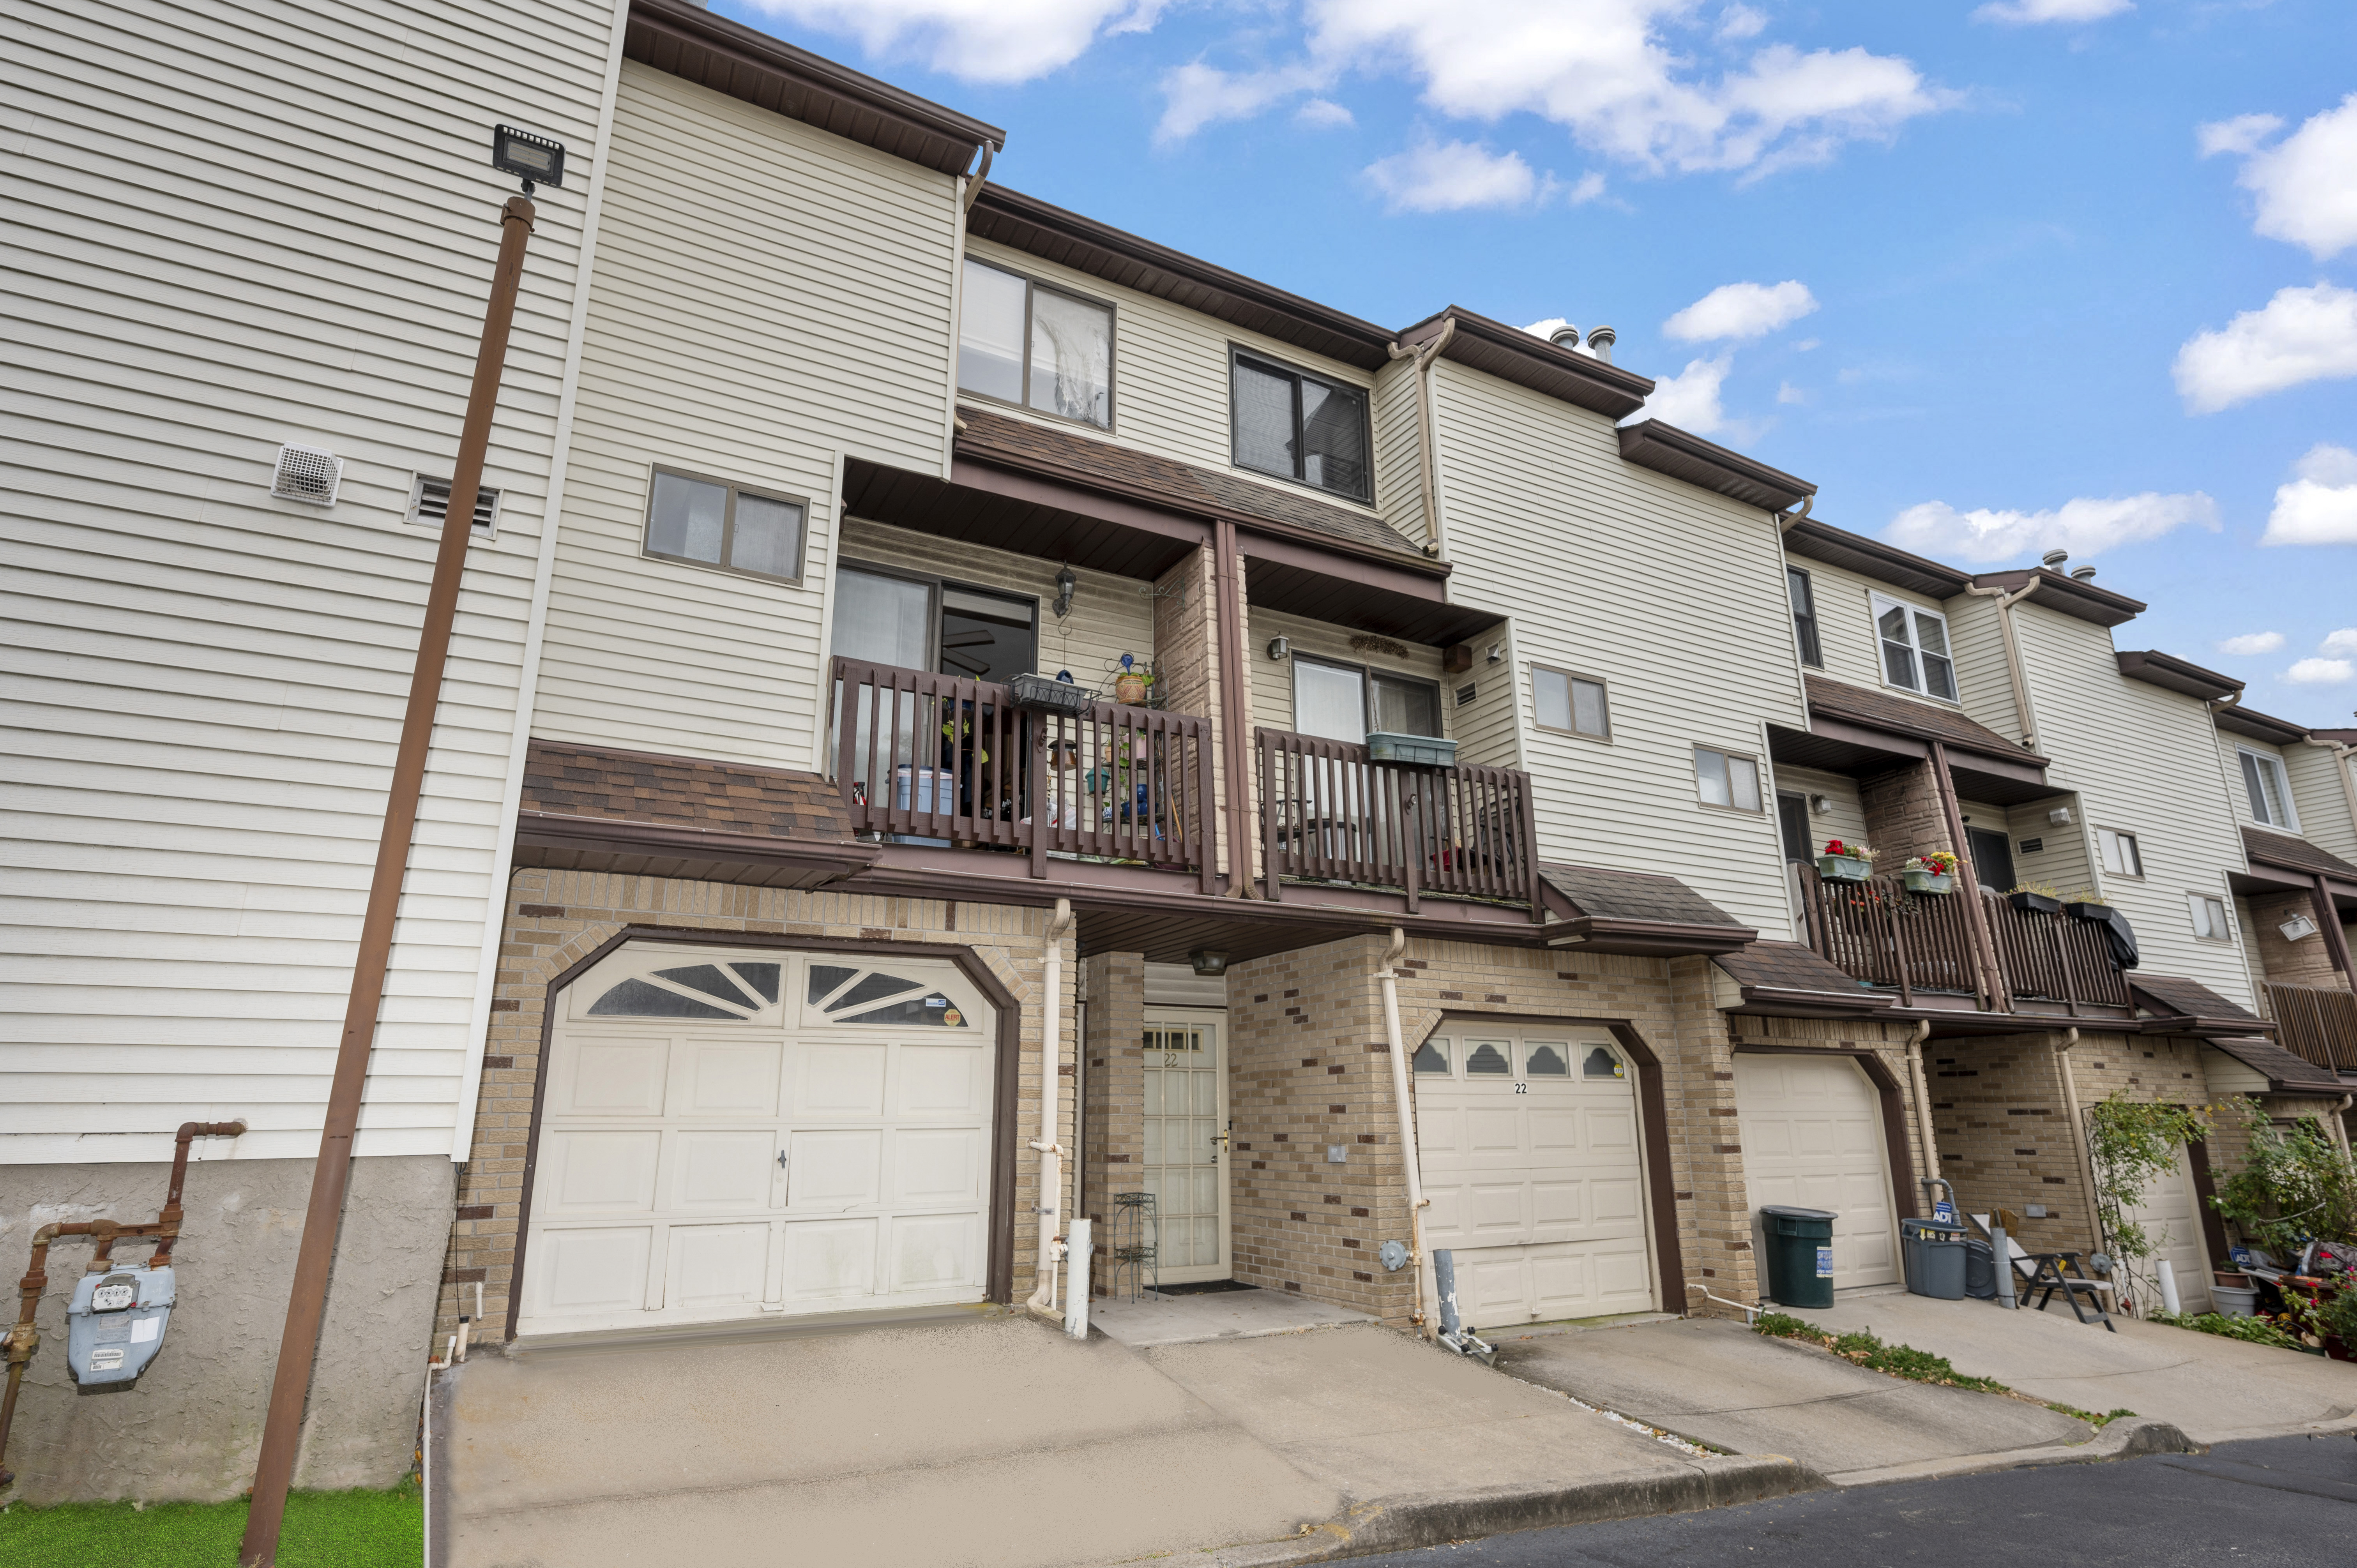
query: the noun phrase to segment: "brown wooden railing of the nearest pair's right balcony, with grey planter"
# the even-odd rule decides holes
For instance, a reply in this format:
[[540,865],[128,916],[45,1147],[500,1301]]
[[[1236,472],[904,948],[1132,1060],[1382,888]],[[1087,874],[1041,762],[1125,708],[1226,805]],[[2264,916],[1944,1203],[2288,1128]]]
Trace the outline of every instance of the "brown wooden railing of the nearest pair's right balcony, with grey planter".
[[1254,731],[1261,757],[1261,865],[1285,879],[1395,887],[1527,903],[1544,920],[1530,776],[1372,762],[1365,745]]

